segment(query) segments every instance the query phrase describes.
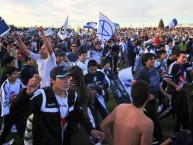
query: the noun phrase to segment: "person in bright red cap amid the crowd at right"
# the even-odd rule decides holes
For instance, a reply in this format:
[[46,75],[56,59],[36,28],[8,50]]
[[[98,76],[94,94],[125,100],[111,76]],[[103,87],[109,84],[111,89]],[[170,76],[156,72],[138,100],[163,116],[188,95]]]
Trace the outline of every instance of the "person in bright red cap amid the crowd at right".
[[159,38],[154,38],[152,44],[150,43],[147,48],[145,49],[145,53],[157,53],[157,49],[159,48],[160,40]]

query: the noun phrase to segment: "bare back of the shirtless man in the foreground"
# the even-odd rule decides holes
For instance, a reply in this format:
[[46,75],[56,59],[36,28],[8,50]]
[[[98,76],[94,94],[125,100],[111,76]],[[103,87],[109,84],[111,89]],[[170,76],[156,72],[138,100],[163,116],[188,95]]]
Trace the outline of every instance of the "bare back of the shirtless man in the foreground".
[[151,145],[153,122],[132,104],[119,105],[114,118],[113,145]]

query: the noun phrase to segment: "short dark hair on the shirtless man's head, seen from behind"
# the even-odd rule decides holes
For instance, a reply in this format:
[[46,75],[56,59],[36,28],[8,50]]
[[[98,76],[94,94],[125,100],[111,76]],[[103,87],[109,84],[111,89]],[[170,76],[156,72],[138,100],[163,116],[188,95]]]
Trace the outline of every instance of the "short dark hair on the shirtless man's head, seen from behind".
[[137,80],[131,86],[131,97],[133,105],[137,108],[143,106],[147,101],[150,94],[150,88],[146,81]]

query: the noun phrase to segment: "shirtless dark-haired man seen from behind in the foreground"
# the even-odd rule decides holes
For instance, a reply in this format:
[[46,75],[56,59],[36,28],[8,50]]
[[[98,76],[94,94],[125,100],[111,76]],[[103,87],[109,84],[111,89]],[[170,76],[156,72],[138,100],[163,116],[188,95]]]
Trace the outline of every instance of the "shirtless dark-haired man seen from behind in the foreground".
[[[150,94],[149,85],[136,81],[131,87],[132,104],[121,104],[101,123],[109,145],[151,145],[153,122],[144,113]],[[110,126],[113,124],[113,138]]]

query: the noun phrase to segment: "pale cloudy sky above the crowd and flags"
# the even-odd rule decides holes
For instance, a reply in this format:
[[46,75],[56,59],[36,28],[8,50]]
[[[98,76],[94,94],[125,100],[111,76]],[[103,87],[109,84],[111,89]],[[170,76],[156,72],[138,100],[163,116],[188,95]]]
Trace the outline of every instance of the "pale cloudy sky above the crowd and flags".
[[15,26],[71,27],[99,21],[99,12],[121,27],[193,23],[192,0],[0,0],[0,16]]

